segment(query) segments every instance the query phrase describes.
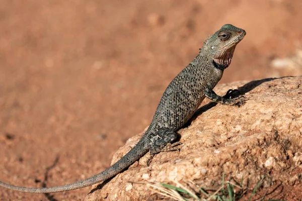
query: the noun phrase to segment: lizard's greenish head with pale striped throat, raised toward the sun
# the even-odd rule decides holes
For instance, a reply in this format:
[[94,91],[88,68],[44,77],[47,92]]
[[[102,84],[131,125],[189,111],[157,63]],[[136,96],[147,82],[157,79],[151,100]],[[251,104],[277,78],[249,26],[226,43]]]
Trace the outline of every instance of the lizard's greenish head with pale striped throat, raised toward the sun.
[[230,65],[236,45],[246,35],[245,30],[233,25],[223,25],[220,30],[210,36],[204,48],[212,56],[214,62],[226,68]]

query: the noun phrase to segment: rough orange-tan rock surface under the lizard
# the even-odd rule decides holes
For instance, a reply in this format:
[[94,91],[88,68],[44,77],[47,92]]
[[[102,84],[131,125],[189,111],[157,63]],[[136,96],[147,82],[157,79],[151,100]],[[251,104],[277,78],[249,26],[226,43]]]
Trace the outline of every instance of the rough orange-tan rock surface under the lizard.
[[[268,78],[220,84],[222,95],[239,88],[248,102],[238,108],[205,100],[192,122],[181,129],[181,150],[157,154],[149,166],[148,154],[126,171],[96,188],[86,200],[149,200],[155,195],[145,180],[181,183],[192,180],[209,186],[226,178],[255,184],[263,174],[272,181],[299,182],[302,172],[302,77]],[[206,104],[206,105],[205,105]],[[116,162],[135,145],[142,133],[129,139],[114,155]],[[295,169],[294,174],[292,173]]]

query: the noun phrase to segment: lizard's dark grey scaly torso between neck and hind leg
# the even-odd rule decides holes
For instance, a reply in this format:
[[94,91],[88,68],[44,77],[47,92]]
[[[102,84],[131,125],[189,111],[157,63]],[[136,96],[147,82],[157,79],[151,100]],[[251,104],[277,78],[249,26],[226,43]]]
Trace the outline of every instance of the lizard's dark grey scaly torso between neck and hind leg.
[[179,130],[195,113],[204,99],[204,89],[212,68],[198,55],[168,85],[150,129],[168,128]]

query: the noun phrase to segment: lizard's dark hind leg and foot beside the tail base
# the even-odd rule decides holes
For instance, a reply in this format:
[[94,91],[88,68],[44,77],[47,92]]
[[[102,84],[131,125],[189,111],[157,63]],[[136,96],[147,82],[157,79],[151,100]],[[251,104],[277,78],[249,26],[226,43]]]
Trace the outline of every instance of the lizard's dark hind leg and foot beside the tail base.
[[177,148],[176,146],[181,145],[181,143],[175,142],[179,137],[180,135],[178,133],[171,131],[170,129],[160,129],[156,133],[156,135],[153,136],[153,138],[155,138],[155,141],[150,145],[150,158],[147,160],[147,165],[149,165],[153,156],[159,152],[179,150],[179,148]]

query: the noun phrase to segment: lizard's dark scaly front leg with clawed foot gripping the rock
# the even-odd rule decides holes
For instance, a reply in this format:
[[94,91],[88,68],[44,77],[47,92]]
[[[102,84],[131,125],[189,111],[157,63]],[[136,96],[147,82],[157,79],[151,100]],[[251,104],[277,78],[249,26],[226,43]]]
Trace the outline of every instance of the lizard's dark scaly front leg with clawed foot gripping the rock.
[[233,98],[232,93],[236,94],[237,96],[239,95],[238,90],[229,90],[225,96],[219,96],[217,95],[212,89],[209,87],[206,87],[204,90],[204,94],[207,98],[210,100],[213,100],[216,103],[222,104],[222,105],[229,105],[229,106],[240,106],[244,105],[246,102],[246,98],[244,96],[239,96],[236,98]]

